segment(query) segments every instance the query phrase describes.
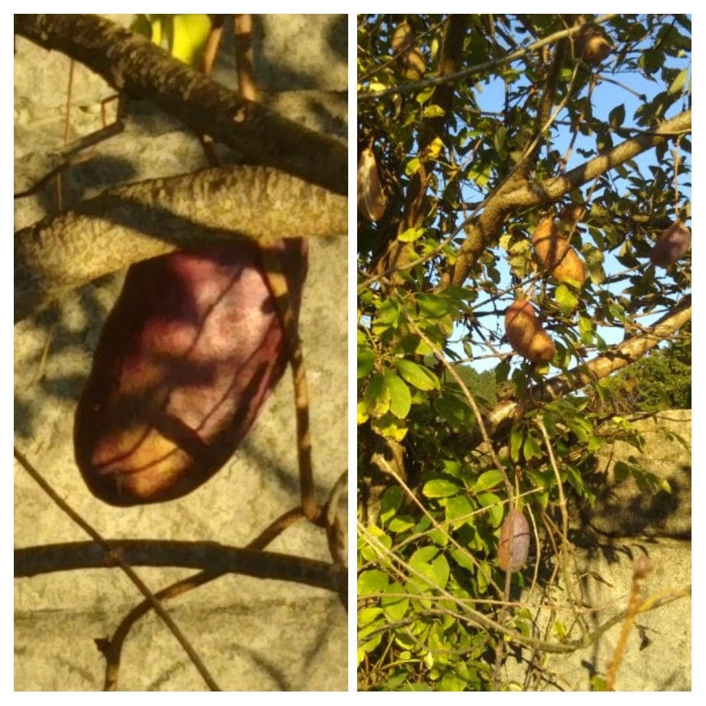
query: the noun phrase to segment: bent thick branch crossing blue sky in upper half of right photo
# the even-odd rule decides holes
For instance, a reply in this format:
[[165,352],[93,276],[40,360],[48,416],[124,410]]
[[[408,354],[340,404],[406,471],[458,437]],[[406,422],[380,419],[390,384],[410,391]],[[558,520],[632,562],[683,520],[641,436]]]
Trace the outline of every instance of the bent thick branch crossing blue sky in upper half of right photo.
[[640,152],[645,152],[668,140],[671,136],[688,131],[690,128],[691,111],[687,110],[664,121],[652,133],[644,133],[631,140],[626,140],[605,155],[594,157],[570,172],[562,174],[561,177],[545,181],[542,184],[526,183],[512,191],[498,189],[489,197],[484,205],[483,213],[476,222],[467,226],[467,238],[458,249],[455,265],[443,273],[437,291],[441,291],[449,285],[460,287],[465,282],[481,253],[494,238],[500,235],[505,215],[513,209],[530,208],[556,201],[572,189],[587,184],[592,179],[608,172],[609,169],[614,169],[618,164],[633,159]]

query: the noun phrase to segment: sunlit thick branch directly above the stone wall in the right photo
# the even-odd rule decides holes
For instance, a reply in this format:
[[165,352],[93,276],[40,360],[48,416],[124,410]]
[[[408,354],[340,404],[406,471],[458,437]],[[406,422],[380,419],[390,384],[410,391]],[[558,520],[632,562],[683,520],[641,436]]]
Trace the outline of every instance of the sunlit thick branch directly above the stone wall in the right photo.
[[[641,358],[666,337],[683,328],[691,319],[691,297],[686,296],[657,321],[650,329],[633,336],[610,351],[547,380],[540,389],[535,389],[522,400],[506,400],[486,414],[486,429],[494,436],[501,429],[520,419],[529,409],[539,407],[542,402],[580,390],[590,383],[609,376]],[[481,443],[478,431],[473,432],[472,445]]]

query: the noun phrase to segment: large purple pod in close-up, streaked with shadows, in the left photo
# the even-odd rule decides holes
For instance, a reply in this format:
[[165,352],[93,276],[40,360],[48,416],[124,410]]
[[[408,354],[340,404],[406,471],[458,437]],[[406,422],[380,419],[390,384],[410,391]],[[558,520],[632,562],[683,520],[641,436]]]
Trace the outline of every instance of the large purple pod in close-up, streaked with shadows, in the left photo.
[[[298,314],[306,244],[272,247]],[[76,409],[74,451],[88,488],[112,505],[191,492],[234,453],[288,360],[256,244],[132,265]]]

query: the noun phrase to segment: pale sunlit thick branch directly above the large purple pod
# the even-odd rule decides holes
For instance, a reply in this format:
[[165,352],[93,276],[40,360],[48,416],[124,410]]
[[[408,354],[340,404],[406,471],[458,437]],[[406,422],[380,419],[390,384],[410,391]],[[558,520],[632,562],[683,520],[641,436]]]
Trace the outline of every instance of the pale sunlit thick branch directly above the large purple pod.
[[214,238],[347,232],[347,199],[269,167],[217,167],[107,189],[15,237],[15,320],[146,258]]

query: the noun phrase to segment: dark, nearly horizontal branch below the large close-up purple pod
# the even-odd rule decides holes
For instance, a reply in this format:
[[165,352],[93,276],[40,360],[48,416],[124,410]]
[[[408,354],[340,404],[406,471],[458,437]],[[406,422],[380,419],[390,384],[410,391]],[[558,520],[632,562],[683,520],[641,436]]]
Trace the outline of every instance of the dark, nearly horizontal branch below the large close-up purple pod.
[[[347,591],[347,570],[324,561],[239,549],[216,542],[177,542],[155,539],[108,539],[130,566],[181,566],[220,574],[294,581],[334,592]],[[15,550],[15,578],[53,571],[116,566],[97,542],[46,544]]]

